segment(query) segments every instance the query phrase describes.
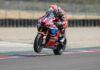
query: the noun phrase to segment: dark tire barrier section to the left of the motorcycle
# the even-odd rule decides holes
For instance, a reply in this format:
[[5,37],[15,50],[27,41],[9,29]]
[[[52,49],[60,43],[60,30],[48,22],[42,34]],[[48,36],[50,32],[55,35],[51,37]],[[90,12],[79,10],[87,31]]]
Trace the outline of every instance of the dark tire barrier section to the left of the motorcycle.
[[0,19],[0,27],[35,27],[34,19]]

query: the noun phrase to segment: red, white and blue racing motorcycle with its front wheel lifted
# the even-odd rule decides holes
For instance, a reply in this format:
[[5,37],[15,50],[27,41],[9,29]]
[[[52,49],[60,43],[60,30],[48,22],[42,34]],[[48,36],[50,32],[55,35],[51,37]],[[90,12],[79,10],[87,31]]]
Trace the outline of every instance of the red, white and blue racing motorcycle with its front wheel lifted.
[[[43,22],[38,23],[41,26],[38,29],[37,36],[34,40],[34,51],[40,53],[43,48],[52,49],[55,55],[61,55],[66,48],[66,38],[64,38],[63,43],[60,43],[58,38],[50,37],[51,31],[48,29],[50,25],[53,24],[53,15],[48,14],[46,18],[42,18]],[[39,21],[41,21],[39,20]],[[57,32],[57,36],[60,35],[60,32]]]

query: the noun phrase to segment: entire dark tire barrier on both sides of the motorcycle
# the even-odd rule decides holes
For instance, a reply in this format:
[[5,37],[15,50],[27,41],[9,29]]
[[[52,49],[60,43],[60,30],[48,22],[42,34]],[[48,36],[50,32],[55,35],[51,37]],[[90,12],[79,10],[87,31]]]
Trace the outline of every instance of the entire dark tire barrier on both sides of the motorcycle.
[[[100,19],[70,19],[69,27],[100,27]],[[35,27],[37,19],[0,19],[0,27]]]

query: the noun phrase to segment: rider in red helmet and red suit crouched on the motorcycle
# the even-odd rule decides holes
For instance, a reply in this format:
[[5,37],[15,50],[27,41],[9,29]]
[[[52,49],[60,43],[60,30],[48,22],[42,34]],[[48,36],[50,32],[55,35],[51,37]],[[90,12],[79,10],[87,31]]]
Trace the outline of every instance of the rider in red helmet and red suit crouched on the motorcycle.
[[50,5],[48,11],[52,11],[55,15],[54,24],[60,31],[59,41],[63,42],[65,37],[65,29],[68,26],[67,16],[64,13],[64,10],[62,10],[61,7],[57,7],[57,5]]

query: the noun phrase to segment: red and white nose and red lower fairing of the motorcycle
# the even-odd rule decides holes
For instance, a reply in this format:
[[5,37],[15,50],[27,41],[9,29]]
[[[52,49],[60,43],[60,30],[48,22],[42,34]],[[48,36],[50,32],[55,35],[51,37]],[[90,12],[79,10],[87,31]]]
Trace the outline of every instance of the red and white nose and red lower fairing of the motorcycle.
[[52,18],[42,17],[38,20],[38,23],[41,25],[38,33],[43,35],[43,41],[46,41],[45,42],[46,48],[49,48],[50,46],[55,46],[56,37],[58,37],[59,35],[59,32],[57,32],[55,36],[51,36],[49,26],[54,25],[53,20],[54,17]]

